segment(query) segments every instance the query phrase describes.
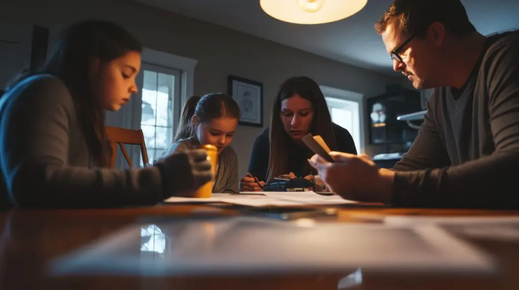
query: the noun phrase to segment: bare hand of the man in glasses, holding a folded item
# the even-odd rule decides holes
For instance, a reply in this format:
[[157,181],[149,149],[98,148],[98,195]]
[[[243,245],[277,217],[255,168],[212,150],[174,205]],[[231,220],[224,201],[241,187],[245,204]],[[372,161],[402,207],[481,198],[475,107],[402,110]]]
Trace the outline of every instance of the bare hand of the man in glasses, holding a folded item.
[[347,200],[390,203],[392,171],[381,171],[365,154],[330,152],[330,155],[336,162],[327,162],[318,155],[308,162],[333,192]]

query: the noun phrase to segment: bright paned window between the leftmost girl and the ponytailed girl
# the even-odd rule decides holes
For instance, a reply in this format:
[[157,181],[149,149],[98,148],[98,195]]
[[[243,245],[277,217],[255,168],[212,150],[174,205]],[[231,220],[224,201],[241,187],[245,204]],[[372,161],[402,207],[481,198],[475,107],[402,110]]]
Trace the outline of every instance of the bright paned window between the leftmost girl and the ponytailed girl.
[[[180,71],[143,65],[142,78],[140,127],[149,163],[153,163],[173,142],[180,115]],[[144,165],[142,158],[140,164]]]

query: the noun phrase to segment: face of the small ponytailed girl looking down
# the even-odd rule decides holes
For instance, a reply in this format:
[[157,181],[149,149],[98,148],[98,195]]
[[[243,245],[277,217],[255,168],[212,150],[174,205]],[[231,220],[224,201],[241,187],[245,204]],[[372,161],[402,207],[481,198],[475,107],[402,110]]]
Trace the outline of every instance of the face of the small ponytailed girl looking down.
[[218,154],[220,154],[233,141],[238,119],[224,117],[199,123],[195,115],[193,123],[196,126],[196,136],[200,144],[214,145],[218,149]]

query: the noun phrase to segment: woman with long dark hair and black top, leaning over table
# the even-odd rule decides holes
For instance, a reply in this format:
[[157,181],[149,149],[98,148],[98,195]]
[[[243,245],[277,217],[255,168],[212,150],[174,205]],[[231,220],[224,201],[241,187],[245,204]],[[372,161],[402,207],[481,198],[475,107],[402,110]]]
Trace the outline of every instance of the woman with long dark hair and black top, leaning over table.
[[307,77],[292,77],[278,90],[270,127],[254,142],[241,190],[261,191],[265,181],[278,176],[305,177],[323,185],[308,163],[313,154],[301,141],[308,133],[321,135],[331,150],[357,154],[348,130],[332,123],[319,85]]

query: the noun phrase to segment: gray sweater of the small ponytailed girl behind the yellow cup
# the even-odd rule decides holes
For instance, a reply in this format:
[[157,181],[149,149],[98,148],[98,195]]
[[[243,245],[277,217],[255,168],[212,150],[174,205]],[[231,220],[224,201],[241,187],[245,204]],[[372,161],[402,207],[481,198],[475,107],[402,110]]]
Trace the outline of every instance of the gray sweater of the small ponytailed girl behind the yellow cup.
[[[168,149],[166,156],[182,152],[187,149],[194,149],[200,146],[195,138],[181,139]],[[227,146],[218,155],[218,167],[216,180],[213,187],[215,193],[239,193],[238,190],[238,156],[233,148]]]

